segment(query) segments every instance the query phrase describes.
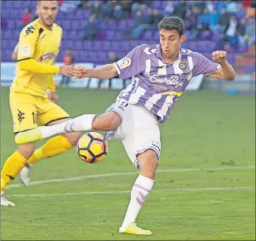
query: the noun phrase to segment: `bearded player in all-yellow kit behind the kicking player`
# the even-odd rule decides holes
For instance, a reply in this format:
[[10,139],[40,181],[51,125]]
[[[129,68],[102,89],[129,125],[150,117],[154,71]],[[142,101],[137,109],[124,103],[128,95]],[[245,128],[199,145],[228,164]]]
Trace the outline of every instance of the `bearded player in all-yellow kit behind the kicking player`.
[[[20,33],[16,77],[10,88],[14,133],[38,125],[56,125],[70,118],[65,110],[54,104],[57,100],[54,74],[73,76],[73,66],[54,66],[62,39],[62,28],[54,23],[57,13],[58,1],[38,1],[39,18]],[[79,133],[53,137],[35,152],[33,142],[18,146],[1,171],[1,206],[14,206],[3,197],[3,192],[24,167],[41,158],[67,152],[77,144],[79,137]]]

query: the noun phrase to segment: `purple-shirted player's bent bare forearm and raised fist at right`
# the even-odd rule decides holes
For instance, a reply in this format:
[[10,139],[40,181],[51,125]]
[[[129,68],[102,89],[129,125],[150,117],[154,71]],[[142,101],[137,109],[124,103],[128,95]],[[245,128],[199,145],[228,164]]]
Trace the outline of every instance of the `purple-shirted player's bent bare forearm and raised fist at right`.
[[214,51],[213,61],[220,64],[220,68],[209,76],[213,79],[222,79],[223,81],[234,81],[236,72],[229,62],[227,62],[226,51]]

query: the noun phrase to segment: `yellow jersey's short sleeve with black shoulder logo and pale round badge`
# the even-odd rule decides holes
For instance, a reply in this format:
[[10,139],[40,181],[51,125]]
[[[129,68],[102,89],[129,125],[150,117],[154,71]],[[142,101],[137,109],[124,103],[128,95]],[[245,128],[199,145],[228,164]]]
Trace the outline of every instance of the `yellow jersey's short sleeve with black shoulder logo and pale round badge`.
[[18,61],[32,58],[37,43],[38,32],[33,25],[26,26],[20,32],[18,42]]

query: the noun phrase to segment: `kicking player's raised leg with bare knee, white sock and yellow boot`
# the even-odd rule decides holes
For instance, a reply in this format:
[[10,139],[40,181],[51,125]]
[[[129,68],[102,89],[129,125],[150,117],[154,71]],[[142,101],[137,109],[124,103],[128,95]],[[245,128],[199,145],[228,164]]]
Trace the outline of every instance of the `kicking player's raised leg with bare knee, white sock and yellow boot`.
[[119,114],[106,112],[96,116],[96,114],[84,114],[73,118],[65,123],[51,127],[37,127],[35,129],[18,133],[15,137],[16,144],[25,144],[31,141],[38,141],[62,133],[79,131],[113,131],[121,124]]

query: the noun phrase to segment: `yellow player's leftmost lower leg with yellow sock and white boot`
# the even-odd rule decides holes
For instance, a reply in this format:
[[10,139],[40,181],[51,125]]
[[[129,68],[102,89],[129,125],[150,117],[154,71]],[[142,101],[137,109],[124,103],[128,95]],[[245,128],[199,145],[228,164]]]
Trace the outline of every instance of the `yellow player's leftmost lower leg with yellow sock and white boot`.
[[15,206],[13,202],[10,202],[3,197],[5,188],[9,185],[15,177],[20,173],[24,164],[29,160],[34,152],[35,143],[29,143],[18,146],[18,150],[10,156],[1,171],[1,206]]

